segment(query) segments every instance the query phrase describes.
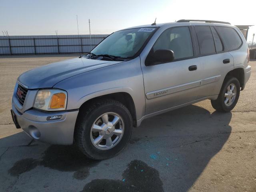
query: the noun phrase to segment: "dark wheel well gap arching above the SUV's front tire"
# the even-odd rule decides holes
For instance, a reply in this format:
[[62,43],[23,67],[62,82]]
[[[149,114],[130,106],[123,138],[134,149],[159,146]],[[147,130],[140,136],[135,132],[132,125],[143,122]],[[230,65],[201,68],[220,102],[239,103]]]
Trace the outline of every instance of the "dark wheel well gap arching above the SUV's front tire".
[[117,92],[117,93],[112,93],[112,94],[107,94],[107,95],[102,95],[102,96],[98,96],[95,98],[92,98],[86,102],[84,102],[79,109],[86,109],[88,108],[88,106],[90,104],[92,104],[93,102],[96,102],[96,100],[102,100],[102,99],[113,99],[116,101],[119,101],[120,103],[124,104],[128,110],[130,111],[131,115],[132,115],[132,120],[133,120],[133,125],[134,127],[136,127],[136,110],[135,110],[135,106],[134,106],[134,102],[132,99],[132,96],[130,96],[130,94],[126,93],[126,92]]

